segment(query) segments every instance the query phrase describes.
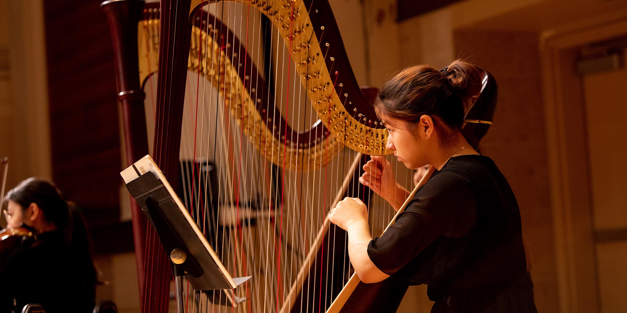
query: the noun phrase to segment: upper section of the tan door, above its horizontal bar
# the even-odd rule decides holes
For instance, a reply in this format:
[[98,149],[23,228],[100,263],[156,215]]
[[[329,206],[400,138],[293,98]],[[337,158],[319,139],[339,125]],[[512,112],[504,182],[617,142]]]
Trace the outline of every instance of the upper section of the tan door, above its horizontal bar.
[[[626,49],[627,51],[627,49]],[[623,59],[627,53],[623,53]],[[584,76],[586,128],[596,230],[627,227],[627,69]]]

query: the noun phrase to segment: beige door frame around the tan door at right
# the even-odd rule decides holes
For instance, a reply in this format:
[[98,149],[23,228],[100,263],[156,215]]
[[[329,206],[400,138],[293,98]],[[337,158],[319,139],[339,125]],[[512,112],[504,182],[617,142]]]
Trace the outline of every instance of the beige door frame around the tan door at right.
[[560,312],[600,312],[583,78],[584,44],[627,34],[627,10],[540,36],[545,125]]

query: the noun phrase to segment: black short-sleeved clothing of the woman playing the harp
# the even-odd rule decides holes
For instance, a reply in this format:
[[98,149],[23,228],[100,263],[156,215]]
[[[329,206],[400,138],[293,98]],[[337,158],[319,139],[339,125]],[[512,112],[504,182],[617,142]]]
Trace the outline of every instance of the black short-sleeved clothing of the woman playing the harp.
[[428,284],[431,312],[537,312],[519,207],[487,156],[451,158],[368,255],[393,279]]

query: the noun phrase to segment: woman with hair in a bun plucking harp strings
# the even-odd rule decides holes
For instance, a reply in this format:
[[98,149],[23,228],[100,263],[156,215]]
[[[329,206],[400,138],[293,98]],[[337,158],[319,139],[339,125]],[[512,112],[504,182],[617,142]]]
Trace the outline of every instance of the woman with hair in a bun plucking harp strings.
[[[460,131],[478,80],[476,66],[455,61],[443,72],[413,66],[387,81],[375,103],[387,148],[408,168],[430,164],[437,172],[381,237],[372,239],[359,199],[345,198],[329,218],[347,230],[363,282],[428,284],[431,312],[537,312],[514,193]],[[398,210],[409,192],[390,163],[373,156],[364,170],[360,182]]]

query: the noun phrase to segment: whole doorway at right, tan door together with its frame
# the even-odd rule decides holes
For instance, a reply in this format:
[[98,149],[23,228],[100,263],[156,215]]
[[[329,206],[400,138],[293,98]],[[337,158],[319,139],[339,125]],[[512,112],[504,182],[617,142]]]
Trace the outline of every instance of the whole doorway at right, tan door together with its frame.
[[626,29],[611,16],[542,41],[561,312],[627,310]]

